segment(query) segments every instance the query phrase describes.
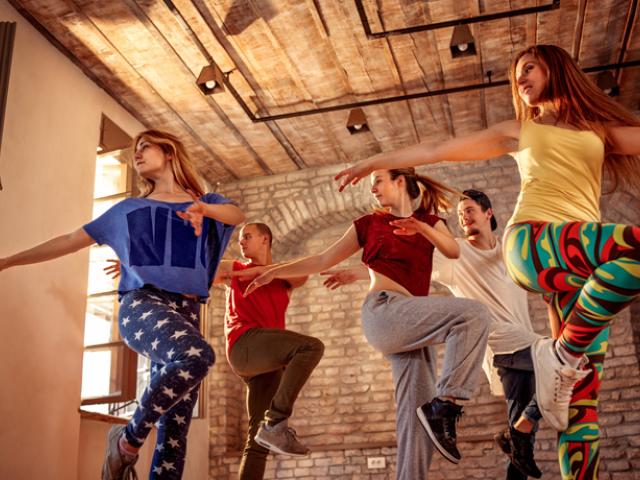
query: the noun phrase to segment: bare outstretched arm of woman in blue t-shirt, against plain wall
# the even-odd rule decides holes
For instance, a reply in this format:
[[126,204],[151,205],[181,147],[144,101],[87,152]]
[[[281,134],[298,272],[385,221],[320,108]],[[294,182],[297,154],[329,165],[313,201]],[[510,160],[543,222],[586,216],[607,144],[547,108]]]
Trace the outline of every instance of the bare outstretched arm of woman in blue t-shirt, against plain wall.
[[52,260],[76,252],[94,243],[96,243],[95,240],[89,236],[84,228],[79,228],[75,232],[60,235],[33,248],[11,255],[10,257],[0,258],[0,271],[18,265],[28,265]]

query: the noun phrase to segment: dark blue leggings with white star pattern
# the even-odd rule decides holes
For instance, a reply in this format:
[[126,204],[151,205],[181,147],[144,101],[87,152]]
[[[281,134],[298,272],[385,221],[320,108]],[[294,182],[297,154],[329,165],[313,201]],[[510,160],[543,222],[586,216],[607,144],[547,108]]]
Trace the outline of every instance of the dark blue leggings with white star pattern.
[[125,429],[127,441],[139,447],[157,424],[151,479],[182,477],[198,386],[215,361],[199,311],[196,300],[147,286],[120,302],[120,335],[152,361],[151,381]]

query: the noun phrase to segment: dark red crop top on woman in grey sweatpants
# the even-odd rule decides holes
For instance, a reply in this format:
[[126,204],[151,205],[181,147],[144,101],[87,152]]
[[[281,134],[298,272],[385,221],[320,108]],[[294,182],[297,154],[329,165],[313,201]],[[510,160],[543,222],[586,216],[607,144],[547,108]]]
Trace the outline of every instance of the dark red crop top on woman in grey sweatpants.
[[[423,208],[411,216],[432,227],[442,220]],[[431,284],[433,244],[420,234],[394,234],[396,227],[389,222],[399,218],[390,213],[375,212],[353,222],[362,247],[362,262],[399,283],[412,295],[427,296]]]

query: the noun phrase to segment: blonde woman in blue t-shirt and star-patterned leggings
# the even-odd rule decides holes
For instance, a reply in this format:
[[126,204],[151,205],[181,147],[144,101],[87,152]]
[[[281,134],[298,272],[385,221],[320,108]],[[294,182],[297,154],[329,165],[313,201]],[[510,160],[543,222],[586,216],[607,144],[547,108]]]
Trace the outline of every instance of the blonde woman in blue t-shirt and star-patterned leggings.
[[0,258],[0,271],[94,243],[114,249],[121,263],[120,335],[152,368],[133,418],[109,431],[102,479],[137,478],[133,466],[154,424],[150,475],[179,479],[198,386],[215,361],[200,333],[200,302],[244,214],[223,196],[204,193],[175,136],[147,130],[135,138],[134,150],[140,197],[117,203],[74,232]]

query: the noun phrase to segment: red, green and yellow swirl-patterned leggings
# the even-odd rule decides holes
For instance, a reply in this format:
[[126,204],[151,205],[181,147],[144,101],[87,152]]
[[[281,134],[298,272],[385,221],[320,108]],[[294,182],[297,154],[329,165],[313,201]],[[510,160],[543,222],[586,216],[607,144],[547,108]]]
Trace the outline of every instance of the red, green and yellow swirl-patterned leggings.
[[598,395],[609,321],[640,293],[640,228],[586,222],[527,222],[505,232],[511,278],[542,293],[562,322],[560,342],[589,359],[575,387],[569,428],[558,441],[564,480],[598,475]]

